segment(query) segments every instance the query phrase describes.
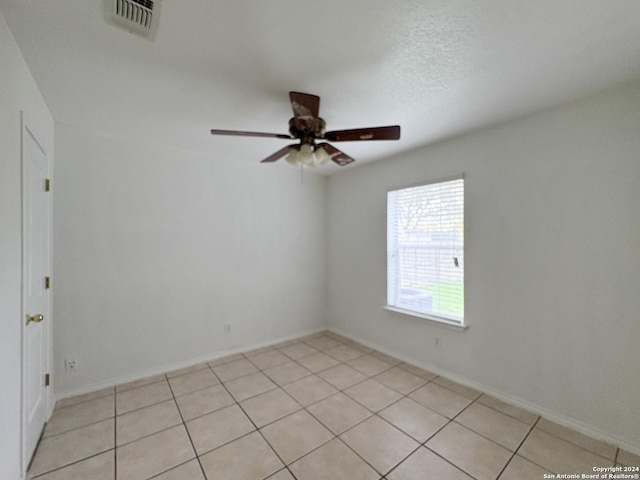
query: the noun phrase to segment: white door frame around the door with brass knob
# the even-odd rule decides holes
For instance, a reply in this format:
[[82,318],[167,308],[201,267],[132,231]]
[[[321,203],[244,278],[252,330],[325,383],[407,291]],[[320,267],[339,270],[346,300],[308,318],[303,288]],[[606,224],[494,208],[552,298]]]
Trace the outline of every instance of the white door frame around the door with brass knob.
[[[21,311],[21,315],[20,315],[20,322],[22,325],[21,331],[20,331],[20,415],[21,415],[21,419],[20,419],[20,457],[21,457],[21,472],[22,472],[22,476],[24,478],[27,477],[27,469],[29,468],[29,464],[32,461],[32,457],[35,454],[34,452],[27,452],[25,449],[25,442],[26,442],[26,424],[27,424],[27,412],[26,412],[26,408],[25,408],[25,401],[26,401],[26,396],[25,396],[25,388],[26,388],[26,381],[27,381],[27,371],[26,371],[26,366],[25,366],[25,355],[26,355],[26,349],[25,349],[25,341],[26,341],[26,336],[25,336],[25,328],[27,327],[26,322],[24,321],[25,319],[25,315],[27,314],[26,309],[25,309],[25,303],[26,303],[26,294],[25,294],[25,270],[24,270],[24,256],[25,256],[25,238],[24,238],[24,232],[25,232],[25,225],[24,225],[24,215],[25,215],[25,191],[24,191],[24,171],[25,171],[25,142],[26,142],[26,135],[30,135],[32,137],[32,139],[37,143],[38,147],[40,148],[40,150],[42,150],[42,152],[44,153],[45,159],[46,159],[46,178],[47,179],[51,179],[51,170],[52,170],[52,164],[51,164],[51,152],[49,152],[47,150],[47,148],[44,147],[43,142],[40,140],[42,137],[37,133],[37,131],[34,130],[34,128],[32,128],[32,123],[30,123],[28,121],[28,117],[25,115],[25,113],[23,111],[20,112],[20,202],[21,202],[21,218],[20,218],[20,222],[21,222],[21,229],[20,229],[20,252],[21,252],[21,258],[20,258],[20,264],[21,264],[21,269],[20,269],[20,296],[21,296],[21,302],[20,302],[20,311]],[[52,192],[49,191],[46,197],[46,215],[47,215],[47,239],[46,239],[46,243],[47,243],[47,258],[45,261],[45,271],[48,272],[48,276],[49,278],[51,278],[51,272],[52,272],[52,266],[53,266],[53,201],[52,201]],[[44,279],[43,279],[44,281]],[[53,329],[52,329],[52,324],[53,324],[53,318],[52,318],[52,301],[51,301],[51,297],[52,297],[52,289],[51,288],[47,288],[45,289],[45,308],[44,308],[44,315],[45,318],[47,319],[45,322],[42,323],[42,327],[43,327],[43,335],[44,335],[44,342],[46,345],[46,348],[44,349],[44,371],[48,372],[50,375],[50,383],[49,383],[49,388],[45,388],[44,391],[44,402],[45,402],[45,425],[46,425],[46,421],[48,421],[48,419],[51,417],[51,414],[53,412],[53,406],[54,406],[54,402],[53,402],[53,375],[52,375],[52,367],[53,367],[53,362],[52,362],[52,357],[53,357]],[[44,379],[43,379],[44,381]],[[42,426],[44,431],[44,426]],[[37,450],[37,447],[36,447]]]

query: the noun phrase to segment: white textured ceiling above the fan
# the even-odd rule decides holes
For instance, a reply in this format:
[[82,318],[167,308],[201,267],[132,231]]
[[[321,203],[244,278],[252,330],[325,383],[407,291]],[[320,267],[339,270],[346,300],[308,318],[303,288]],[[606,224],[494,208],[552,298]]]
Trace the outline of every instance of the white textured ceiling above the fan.
[[209,129],[287,133],[290,90],[328,130],[402,126],[336,145],[358,165],[640,77],[638,0],[164,0],[154,41],[103,0],[0,11],[56,120],[229,161],[287,141]]

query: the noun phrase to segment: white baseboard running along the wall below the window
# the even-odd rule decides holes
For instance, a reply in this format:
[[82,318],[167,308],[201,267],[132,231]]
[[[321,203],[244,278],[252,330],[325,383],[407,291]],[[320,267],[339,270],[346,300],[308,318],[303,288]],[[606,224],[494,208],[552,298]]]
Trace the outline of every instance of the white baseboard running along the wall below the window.
[[508,393],[496,390],[492,387],[489,387],[487,385],[483,385],[481,383],[478,382],[474,382],[473,380],[470,380],[468,378],[465,377],[461,377],[459,375],[453,374],[451,372],[448,372],[446,370],[443,370],[441,368],[438,368],[434,365],[430,365],[430,364],[426,364],[424,362],[420,362],[418,360],[416,360],[415,358],[409,357],[407,355],[404,355],[403,353],[400,352],[396,352],[393,350],[390,350],[388,348],[385,348],[381,345],[378,345],[376,343],[373,342],[369,342],[367,340],[364,340],[362,338],[359,338],[356,335],[353,335],[351,333],[345,332],[343,330],[340,330],[339,328],[335,328],[335,327],[328,327],[327,330],[336,333],[338,335],[342,335],[343,337],[349,338],[353,341],[356,341],[358,343],[361,343],[367,347],[373,348],[375,350],[378,350],[382,353],[386,353],[389,356],[395,357],[398,360],[402,360],[403,362],[409,363],[411,365],[415,365],[416,367],[420,367],[423,368],[425,370],[429,370],[441,377],[445,377],[449,380],[452,380],[454,382],[460,383],[461,385],[464,385],[466,387],[470,387],[473,388],[475,390],[479,390],[483,393],[486,393],[488,395],[491,395],[492,397],[497,398],[498,400],[502,400],[503,402],[509,403],[511,405],[514,405],[516,407],[522,408],[524,410],[528,410],[532,413],[535,413],[537,415],[540,415],[541,417],[546,418],[547,420],[550,420],[552,422],[555,422],[559,425],[562,425],[564,427],[570,428],[572,430],[575,430],[576,432],[582,433],[584,435],[587,435],[589,437],[592,438],[596,438],[598,440],[602,440],[603,442],[612,444],[614,446],[617,446],[623,450],[626,450],[630,453],[633,453],[635,455],[640,455],[640,445],[634,445],[629,443],[628,441],[618,438],[614,435],[611,435],[608,432],[603,432],[601,430],[598,430],[597,428],[594,428],[590,425],[586,425],[582,422],[579,422],[577,420],[574,420],[572,418],[568,418],[565,417],[563,415],[559,415],[556,412],[553,412],[551,410],[548,410],[544,407],[541,407],[539,405],[536,405],[534,403],[528,402],[527,400],[524,400],[522,398],[518,398],[515,397],[513,395],[510,395]]

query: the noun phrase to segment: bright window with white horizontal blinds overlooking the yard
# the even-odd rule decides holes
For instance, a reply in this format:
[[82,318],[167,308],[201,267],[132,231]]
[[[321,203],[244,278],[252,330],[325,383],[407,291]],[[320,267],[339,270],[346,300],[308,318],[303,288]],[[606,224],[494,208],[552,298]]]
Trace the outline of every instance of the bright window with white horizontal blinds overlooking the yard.
[[464,179],[388,192],[387,308],[464,325]]

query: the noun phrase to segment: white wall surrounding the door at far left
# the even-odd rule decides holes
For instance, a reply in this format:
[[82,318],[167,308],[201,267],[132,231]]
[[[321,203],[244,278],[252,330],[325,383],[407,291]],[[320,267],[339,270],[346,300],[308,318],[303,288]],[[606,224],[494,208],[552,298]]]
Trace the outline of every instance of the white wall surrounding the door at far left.
[[20,476],[22,214],[20,112],[53,153],[53,120],[0,14],[0,477]]

